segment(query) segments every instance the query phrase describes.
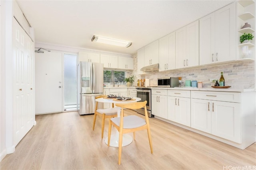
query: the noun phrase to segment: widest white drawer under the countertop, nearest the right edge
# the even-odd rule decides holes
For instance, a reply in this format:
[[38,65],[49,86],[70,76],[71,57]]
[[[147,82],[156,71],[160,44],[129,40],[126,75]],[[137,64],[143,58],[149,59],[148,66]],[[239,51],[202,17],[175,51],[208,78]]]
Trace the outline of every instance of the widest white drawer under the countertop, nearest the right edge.
[[240,92],[191,91],[191,98],[240,103]]

